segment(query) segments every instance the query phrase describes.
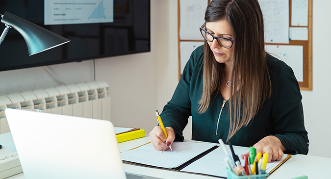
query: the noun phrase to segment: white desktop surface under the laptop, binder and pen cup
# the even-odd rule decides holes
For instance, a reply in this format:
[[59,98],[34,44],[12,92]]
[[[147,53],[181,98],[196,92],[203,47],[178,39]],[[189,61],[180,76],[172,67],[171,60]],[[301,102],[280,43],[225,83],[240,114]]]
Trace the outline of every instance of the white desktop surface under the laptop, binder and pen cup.
[[[150,142],[149,135],[146,135],[143,138],[119,143],[120,152],[132,149],[148,142]],[[16,151],[10,132],[0,135],[0,144],[3,145],[3,150]],[[238,146],[233,147],[241,148]],[[330,177],[330,169],[331,158],[297,154],[292,155],[289,160],[280,166],[280,168],[271,174],[267,179],[292,179],[303,175],[308,176],[308,179],[327,179]],[[124,164],[124,170],[129,173],[149,175],[164,179],[217,179],[214,177],[158,170],[129,164]],[[25,179],[25,177],[24,174],[21,173],[7,179]]]

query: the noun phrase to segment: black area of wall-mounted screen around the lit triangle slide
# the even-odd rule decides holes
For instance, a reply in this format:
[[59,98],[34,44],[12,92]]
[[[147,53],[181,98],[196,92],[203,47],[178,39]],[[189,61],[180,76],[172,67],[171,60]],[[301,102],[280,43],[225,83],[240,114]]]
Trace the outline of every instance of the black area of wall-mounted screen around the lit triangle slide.
[[[113,23],[44,25],[44,0],[0,0],[1,14],[8,11],[71,40],[28,56],[23,37],[10,29],[0,45],[0,71],[149,52],[150,4],[150,0],[114,0]],[[5,25],[0,23],[2,32],[1,27]]]

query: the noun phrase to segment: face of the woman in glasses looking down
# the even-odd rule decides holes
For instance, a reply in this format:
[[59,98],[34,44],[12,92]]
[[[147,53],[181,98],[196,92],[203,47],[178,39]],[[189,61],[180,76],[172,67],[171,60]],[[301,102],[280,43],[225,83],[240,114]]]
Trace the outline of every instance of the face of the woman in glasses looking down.
[[[218,22],[207,22],[205,26],[206,30],[214,37],[225,37],[233,39],[231,28],[227,20],[221,20]],[[233,56],[234,44],[230,49],[222,47],[216,39],[212,42],[208,42],[210,50],[214,53],[215,59],[219,63],[225,63],[229,66]]]

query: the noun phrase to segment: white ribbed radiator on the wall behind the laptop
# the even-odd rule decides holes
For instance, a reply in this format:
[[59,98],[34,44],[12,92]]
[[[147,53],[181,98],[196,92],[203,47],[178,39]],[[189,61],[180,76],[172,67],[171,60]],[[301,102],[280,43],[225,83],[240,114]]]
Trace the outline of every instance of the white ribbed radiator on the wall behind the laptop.
[[110,121],[108,89],[105,81],[91,81],[0,95],[0,133],[10,131],[7,107]]

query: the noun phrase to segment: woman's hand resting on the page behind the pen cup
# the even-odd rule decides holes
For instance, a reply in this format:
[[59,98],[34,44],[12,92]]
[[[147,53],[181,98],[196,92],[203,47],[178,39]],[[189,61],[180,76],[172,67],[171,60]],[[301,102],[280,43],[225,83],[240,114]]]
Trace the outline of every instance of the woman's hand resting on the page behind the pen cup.
[[[268,153],[268,163],[271,161],[280,161],[286,151],[285,146],[280,142],[280,139],[276,136],[269,135],[258,141],[253,146],[256,149],[256,153]],[[250,157],[250,152],[242,154],[241,158],[244,159],[244,155]]]

